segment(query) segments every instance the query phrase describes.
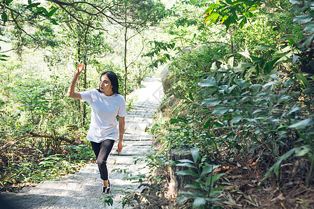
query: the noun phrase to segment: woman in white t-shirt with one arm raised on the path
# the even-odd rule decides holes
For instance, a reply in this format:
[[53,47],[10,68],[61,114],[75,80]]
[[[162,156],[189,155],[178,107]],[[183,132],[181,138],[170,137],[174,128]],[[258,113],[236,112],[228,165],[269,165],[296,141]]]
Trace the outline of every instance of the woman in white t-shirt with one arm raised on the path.
[[100,77],[99,88],[75,92],[75,84],[84,65],[79,63],[74,77],[68,88],[67,96],[89,102],[91,106],[91,124],[87,139],[96,155],[100,178],[103,180],[102,192],[110,194],[111,185],[108,180],[107,157],[109,156],[114,141],[118,137],[117,116],[119,116],[119,143],[117,152],[122,150],[124,136],[124,117],[126,116],[126,102],[119,93],[117,75],[112,71],[103,72]]

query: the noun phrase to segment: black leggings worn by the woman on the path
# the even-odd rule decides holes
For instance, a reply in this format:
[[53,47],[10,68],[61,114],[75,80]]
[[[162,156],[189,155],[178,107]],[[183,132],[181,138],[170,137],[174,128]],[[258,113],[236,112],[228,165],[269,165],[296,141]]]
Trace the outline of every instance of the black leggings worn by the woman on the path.
[[91,141],[91,148],[93,148],[96,155],[100,178],[102,180],[108,180],[107,158],[112,150],[113,145],[114,140],[111,139],[106,139],[101,143]]

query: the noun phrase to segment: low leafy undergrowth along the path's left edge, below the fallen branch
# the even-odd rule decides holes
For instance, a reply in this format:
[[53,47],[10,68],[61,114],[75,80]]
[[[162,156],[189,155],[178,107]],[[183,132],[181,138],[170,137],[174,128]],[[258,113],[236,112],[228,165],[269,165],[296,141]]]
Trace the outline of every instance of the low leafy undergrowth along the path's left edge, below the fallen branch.
[[66,150],[67,155],[55,154],[47,157],[35,152],[31,156],[23,157],[12,153],[12,159],[0,166],[1,187],[10,190],[11,185],[31,185],[42,180],[59,178],[67,173],[75,173],[83,164],[94,158],[91,148],[84,145],[66,146]]

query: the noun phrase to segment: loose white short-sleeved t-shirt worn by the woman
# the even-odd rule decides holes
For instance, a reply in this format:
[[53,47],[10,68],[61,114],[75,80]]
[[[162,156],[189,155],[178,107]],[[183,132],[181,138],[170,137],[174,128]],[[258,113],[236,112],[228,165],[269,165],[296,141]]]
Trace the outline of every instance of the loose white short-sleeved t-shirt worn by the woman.
[[126,116],[126,101],[120,94],[107,96],[98,90],[80,92],[83,101],[91,107],[91,124],[87,140],[100,143],[105,139],[117,140],[117,116]]

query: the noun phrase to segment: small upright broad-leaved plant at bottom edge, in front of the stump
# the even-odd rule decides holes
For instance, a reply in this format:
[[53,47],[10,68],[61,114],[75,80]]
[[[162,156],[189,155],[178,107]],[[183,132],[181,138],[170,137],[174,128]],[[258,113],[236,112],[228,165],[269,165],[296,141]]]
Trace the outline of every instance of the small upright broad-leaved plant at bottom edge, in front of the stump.
[[183,171],[177,171],[180,176],[193,176],[195,183],[185,185],[186,188],[192,189],[191,192],[180,192],[178,196],[179,203],[184,203],[189,199],[193,199],[193,208],[210,208],[212,204],[220,205],[218,196],[221,194],[222,187],[214,187],[215,183],[224,176],[225,173],[214,175],[213,171],[218,166],[208,164],[207,156],[201,157],[200,149],[190,149],[193,161],[179,160],[177,167],[187,167]]

